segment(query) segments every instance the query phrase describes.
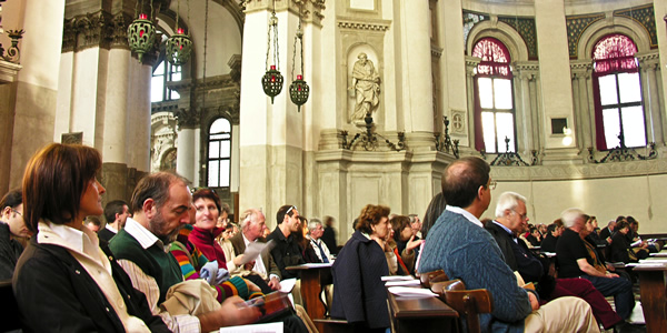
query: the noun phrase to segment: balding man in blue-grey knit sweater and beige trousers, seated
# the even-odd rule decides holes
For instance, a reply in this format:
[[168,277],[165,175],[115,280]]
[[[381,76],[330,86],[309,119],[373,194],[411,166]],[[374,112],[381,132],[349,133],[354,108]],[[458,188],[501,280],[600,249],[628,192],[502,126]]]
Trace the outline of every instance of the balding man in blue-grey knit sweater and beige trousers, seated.
[[494,307],[479,315],[482,332],[599,332],[585,301],[560,297],[540,306],[532,290],[518,285],[479,221],[495,186],[489,172],[487,162],[472,157],[447,165],[442,175],[447,208],[428,232],[419,272],[442,270],[467,289],[488,290]]

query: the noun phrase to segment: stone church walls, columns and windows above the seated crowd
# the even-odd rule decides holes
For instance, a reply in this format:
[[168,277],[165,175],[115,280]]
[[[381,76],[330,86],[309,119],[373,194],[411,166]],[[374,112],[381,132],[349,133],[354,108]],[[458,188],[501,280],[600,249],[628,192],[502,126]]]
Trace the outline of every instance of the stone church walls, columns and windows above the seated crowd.
[[665,0],[0,4],[3,193],[39,148],[79,142],[102,154],[106,201],[172,170],[232,215],[273,228],[295,204],[346,240],[367,203],[422,215],[444,168],[476,155],[531,223],[577,206],[667,233]]

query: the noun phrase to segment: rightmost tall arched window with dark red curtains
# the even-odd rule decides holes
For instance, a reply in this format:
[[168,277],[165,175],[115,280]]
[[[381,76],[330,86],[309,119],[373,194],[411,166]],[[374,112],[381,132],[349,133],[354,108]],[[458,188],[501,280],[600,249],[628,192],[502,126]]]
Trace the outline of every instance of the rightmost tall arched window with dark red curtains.
[[637,46],[610,34],[593,49],[596,143],[598,150],[646,145]]

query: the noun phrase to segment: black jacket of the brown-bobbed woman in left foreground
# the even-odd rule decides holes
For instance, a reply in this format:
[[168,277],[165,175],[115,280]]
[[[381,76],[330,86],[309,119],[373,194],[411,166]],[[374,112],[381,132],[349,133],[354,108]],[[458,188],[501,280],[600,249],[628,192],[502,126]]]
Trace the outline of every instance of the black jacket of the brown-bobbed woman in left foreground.
[[[40,244],[36,234],[17,264],[12,286],[24,332],[125,332],[122,322],[86,269],[63,248]],[[101,242],[103,243],[103,242]],[[128,313],[152,332],[170,332],[152,315],[146,296],[111,255],[112,276]]]

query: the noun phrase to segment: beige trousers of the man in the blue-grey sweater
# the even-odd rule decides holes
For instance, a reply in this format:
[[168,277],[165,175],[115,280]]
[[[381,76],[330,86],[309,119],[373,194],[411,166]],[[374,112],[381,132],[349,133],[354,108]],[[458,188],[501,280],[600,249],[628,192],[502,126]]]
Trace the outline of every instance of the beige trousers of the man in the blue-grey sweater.
[[595,332],[600,329],[590,305],[579,297],[559,297],[532,311],[524,321],[525,332]]

